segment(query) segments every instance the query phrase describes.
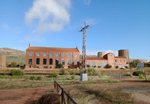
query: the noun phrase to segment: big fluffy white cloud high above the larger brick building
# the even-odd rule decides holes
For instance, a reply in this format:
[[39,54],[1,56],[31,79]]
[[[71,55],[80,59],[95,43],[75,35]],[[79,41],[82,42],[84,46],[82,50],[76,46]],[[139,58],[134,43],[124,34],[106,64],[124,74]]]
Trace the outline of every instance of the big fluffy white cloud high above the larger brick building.
[[70,22],[70,7],[70,0],[34,0],[25,13],[25,22],[37,23],[34,32],[59,31]]

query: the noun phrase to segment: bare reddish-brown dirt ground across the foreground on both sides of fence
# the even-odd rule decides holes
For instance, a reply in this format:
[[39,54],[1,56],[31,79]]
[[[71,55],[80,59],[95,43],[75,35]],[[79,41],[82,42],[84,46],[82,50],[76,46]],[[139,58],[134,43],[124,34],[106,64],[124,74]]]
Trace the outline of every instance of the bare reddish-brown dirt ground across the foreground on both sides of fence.
[[[81,85],[81,84],[80,84]],[[99,86],[102,89],[115,89],[122,87],[125,92],[132,92],[132,96],[142,104],[150,104],[150,82],[124,81],[121,83],[89,84]],[[76,85],[63,86],[71,89]],[[0,90],[0,104],[30,104],[42,94],[53,89],[53,85],[38,88],[4,89]]]

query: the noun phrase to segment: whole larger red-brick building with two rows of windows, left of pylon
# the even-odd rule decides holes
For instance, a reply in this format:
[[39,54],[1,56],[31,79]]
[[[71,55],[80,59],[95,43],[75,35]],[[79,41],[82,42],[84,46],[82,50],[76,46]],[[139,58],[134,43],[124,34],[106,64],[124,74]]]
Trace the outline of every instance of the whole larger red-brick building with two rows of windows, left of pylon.
[[29,47],[26,49],[26,68],[79,67],[80,51],[76,48]]

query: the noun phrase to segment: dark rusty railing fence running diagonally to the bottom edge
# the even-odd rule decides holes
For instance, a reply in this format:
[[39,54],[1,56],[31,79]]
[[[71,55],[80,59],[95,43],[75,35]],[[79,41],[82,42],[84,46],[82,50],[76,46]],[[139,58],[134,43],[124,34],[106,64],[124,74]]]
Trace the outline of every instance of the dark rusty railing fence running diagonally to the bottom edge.
[[[54,81],[54,88],[56,89],[57,93],[60,93],[61,91],[61,104],[77,104],[56,81]],[[65,96],[67,97],[67,102]]]

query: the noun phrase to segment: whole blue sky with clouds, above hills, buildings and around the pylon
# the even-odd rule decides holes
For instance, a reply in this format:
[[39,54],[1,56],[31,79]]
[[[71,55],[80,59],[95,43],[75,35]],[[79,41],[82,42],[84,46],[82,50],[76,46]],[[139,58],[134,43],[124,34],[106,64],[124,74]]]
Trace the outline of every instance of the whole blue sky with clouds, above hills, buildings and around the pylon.
[[0,0],[0,48],[79,47],[88,55],[128,49],[150,60],[150,0]]

